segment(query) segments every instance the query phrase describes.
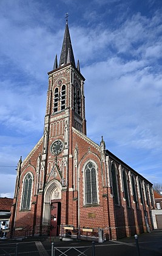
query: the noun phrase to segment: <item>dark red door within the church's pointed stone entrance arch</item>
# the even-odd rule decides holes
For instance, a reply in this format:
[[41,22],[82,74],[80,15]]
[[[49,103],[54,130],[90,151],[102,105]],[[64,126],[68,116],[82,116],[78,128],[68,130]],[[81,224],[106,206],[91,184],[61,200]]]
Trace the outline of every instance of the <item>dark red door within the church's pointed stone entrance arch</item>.
[[50,235],[59,235],[59,225],[61,223],[61,203],[52,202],[51,204],[51,230]]

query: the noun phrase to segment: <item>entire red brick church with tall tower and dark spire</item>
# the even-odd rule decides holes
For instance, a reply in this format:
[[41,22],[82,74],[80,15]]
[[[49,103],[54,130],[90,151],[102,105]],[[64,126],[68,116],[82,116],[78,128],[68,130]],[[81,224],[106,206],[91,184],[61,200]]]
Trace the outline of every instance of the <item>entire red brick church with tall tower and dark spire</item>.
[[44,134],[19,160],[10,236],[93,236],[104,240],[152,230],[152,183],[86,135],[84,76],[66,23],[62,50],[48,73]]

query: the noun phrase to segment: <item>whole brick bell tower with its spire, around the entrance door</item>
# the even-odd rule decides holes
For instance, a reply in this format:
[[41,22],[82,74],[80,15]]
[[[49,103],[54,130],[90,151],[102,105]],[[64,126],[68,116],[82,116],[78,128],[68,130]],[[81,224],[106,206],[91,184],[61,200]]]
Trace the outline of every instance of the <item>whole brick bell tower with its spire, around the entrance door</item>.
[[[85,79],[80,73],[79,60],[75,65],[67,22],[59,65],[56,55],[53,70],[48,75],[49,88],[41,160],[41,177],[44,179],[41,182],[45,187],[44,192],[43,188],[42,191],[39,190],[39,193],[44,193],[42,224],[50,224],[49,221],[46,221],[46,216],[50,212],[50,204],[54,201],[58,203],[59,200],[61,202],[61,222],[66,223],[66,192],[72,189],[72,170],[69,168],[72,165],[73,154],[72,127],[86,135]],[[51,192],[55,190],[58,193]]]

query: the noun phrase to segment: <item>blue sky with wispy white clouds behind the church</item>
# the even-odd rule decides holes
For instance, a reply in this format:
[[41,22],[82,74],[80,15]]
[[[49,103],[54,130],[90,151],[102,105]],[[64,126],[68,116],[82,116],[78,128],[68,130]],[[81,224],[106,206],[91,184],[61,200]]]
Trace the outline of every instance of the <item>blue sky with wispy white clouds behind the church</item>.
[[44,128],[47,72],[69,13],[86,78],[87,136],[152,183],[162,183],[161,0],[0,1],[0,196]]

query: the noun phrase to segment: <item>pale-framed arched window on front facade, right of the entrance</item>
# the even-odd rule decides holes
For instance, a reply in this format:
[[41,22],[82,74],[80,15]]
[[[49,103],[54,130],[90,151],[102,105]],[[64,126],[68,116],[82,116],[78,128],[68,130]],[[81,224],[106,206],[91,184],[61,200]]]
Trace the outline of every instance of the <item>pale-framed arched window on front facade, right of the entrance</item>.
[[96,169],[92,162],[85,168],[85,201],[86,204],[98,204],[96,194]]

